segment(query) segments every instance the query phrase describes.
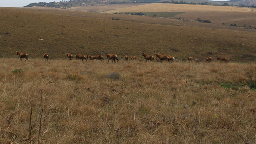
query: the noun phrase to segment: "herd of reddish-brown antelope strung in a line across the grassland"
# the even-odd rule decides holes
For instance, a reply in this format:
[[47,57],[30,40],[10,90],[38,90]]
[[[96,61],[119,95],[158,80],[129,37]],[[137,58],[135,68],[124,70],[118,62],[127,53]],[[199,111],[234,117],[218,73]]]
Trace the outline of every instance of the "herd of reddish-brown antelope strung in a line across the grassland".
[[[17,49],[16,52],[17,52],[17,55],[20,56],[20,60],[22,60],[22,58],[25,58],[26,60],[28,60],[28,54],[19,52],[19,49]],[[172,57],[172,56],[170,56],[170,55],[168,55],[168,56],[167,56],[167,55],[161,55],[161,54],[159,54],[158,51],[157,51],[157,52],[154,51],[154,54],[156,55],[156,61],[157,61],[157,62],[162,63],[163,61],[166,61],[166,62],[169,62],[169,63],[170,63],[170,62],[174,62],[174,61],[175,61],[175,58]],[[69,60],[72,60],[72,58],[73,58],[73,55],[72,55],[72,54],[70,54],[70,53],[67,52],[66,55],[67,55],[67,58],[68,58]],[[76,54],[75,54],[75,55],[76,55]],[[113,61],[114,61],[114,63],[116,63],[116,62],[119,61],[119,59],[122,58],[122,57],[120,57],[119,59],[117,58],[117,52],[115,52],[115,54],[108,54],[108,52],[105,52],[105,55],[106,55],[106,57],[107,57],[107,59],[108,59],[108,63],[109,63],[109,60],[111,60],[112,63],[113,63]],[[43,56],[44,56],[44,60],[45,60],[45,61],[48,61],[49,55],[48,55],[47,53],[44,53]],[[141,56],[144,56],[146,62],[147,62],[147,60],[155,61],[155,60],[154,60],[154,56],[152,56],[152,55],[146,55],[146,54],[144,53],[144,51],[142,51],[142,55],[141,55]],[[125,58],[125,61],[126,61],[126,63],[127,63],[127,62],[128,62],[128,53],[127,53],[127,54],[125,53],[125,57],[124,57],[124,58]],[[131,56],[130,58],[131,58],[131,60],[136,60],[136,59],[137,59],[136,56]],[[193,58],[194,58],[194,56],[189,57],[188,60],[187,60],[187,62],[191,63]],[[217,58],[217,57],[216,57],[216,58]],[[86,56],[85,56],[85,55],[81,55],[81,54],[76,55],[76,59],[77,59],[77,60],[80,59],[80,61],[83,61],[83,62],[84,62],[84,60],[87,61],[87,60],[94,60],[94,59],[96,59],[96,62],[97,62],[97,60],[100,60],[101,62],[103,62],[102,60],[104,60],[104,58],[103,58],[102,55],[95,55],[95,56],[93,56],[93,55],[87,55],[87,59],[86,59]],[[26,60],[25,60],[25,61],[26,61]],[[138,58],[138,60],[139,60],[139,61],[143,61],[144,59]],[[225,62],[225,63],[228,63],[228,62],[229,62],[229,58],[227,58],[227,57],[225,57],[225,58],[219,57],[219,58],[217,58],[217,61],[218,61],[218,60],[220,60],[221,62]],[[207,57],[207,58],[206,58],[206,62],[209,62],[209,63],[210,63],[210,62],[212,62],[212,61],[213,61],[213,58],[212,58],[212,57]],[[195,62],[199,62],[199,59],[195,59]]]

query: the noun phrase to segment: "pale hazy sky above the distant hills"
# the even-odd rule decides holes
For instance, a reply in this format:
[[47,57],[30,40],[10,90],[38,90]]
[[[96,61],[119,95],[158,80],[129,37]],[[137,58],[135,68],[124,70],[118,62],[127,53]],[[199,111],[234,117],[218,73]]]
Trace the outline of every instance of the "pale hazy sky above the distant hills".
[[[0,0],[0,7],[23,7],[30,3],[38,3],[38,2],[49,3],[54,1],[59,2],[60,0]],[[214,0],[214,1],[225,1],[225,0]]]

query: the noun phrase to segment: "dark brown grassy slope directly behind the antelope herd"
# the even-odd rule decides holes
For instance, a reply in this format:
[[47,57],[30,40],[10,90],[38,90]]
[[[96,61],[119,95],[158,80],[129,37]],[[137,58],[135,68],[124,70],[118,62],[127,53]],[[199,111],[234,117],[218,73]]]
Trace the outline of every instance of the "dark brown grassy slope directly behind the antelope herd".
[[[128,52],[140,57],[142,50],[154,55],[157,49],[178,60],[191,55],[197,58],[228,56],[232,61],[255,57],[255,32],[201,28],[210,26],[207,23],[192,23],[198,26],[191,27],[173,19],[173,25],[163,25],[160,23],[165,23],[164,19],[159,21],[162,19],[154,17],[61,9],[1,8],[0,11],[3,14],[0,17],[1,57],[18,58],[17,48],[28,53],[29,58],[41,58],[47,52],[55,59],[64,59],[67,52],[104,55],[104,52],[117,51],[119,56]],[[117,16],[122,17],[114,20]]]

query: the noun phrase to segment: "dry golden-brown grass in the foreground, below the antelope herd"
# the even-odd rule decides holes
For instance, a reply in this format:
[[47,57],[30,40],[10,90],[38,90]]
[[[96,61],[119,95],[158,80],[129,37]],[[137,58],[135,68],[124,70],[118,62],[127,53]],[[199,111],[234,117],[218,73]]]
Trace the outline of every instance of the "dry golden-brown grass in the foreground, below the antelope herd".
[[254,63],[0,60],[3,144],[256,142]]

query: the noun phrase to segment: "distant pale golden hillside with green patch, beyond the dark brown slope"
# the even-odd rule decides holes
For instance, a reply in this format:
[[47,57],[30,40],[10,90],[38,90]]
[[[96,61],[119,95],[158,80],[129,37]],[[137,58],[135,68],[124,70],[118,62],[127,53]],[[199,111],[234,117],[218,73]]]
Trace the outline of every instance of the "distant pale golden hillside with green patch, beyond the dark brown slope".
[[[117,13],[117,14],[143,12],[143,14],[145,14],[146,16],[155,15],[157,17],[162,17],[161,24],[172,23],[171,20],[167,18],[178,18],[178,19],[182,18],[184,21],[186,20],[192,21],[200,18],[203,20],[210,20],[210,22],[217,24],[218,26],[210,25],[210,28],[216,28],[216,29],[241,30],[241,28],[255,29],[256,27],[255,25],[256,8],[232,7],[231,9],[231,7],[228,7],[228,6],[154,3],[154,4],[140,4],[136,6],[129,5],[129,4],[119,4],[119,5],[108,5],[108,6],[100,5],[100,6],[91,6],[91,7],[72,7],[72,9],[82,11],[82,12],[94,11],[94,12]],[[150,22],[150,23],[154,23],[154,22]],[[223,24],[224,26],[222,26]],[[236,26],[240,26],[240,28],[229,27],[231,24],[232,25],[236,24]],[[199,26],[198,24],[192,24],[192,23],[191,24],[186,23],[186,25]],[[200,27],[207,27],[207,26],[200,26]],[[209,26],[207,28],[209,28]]]

